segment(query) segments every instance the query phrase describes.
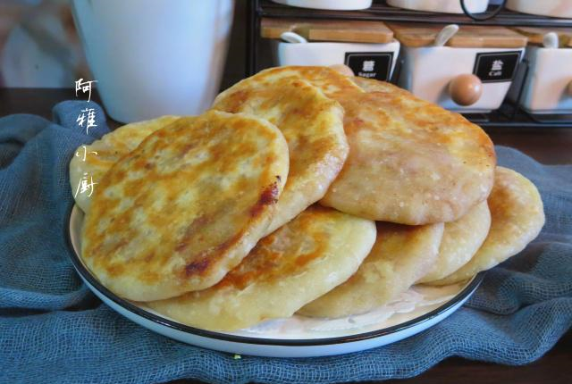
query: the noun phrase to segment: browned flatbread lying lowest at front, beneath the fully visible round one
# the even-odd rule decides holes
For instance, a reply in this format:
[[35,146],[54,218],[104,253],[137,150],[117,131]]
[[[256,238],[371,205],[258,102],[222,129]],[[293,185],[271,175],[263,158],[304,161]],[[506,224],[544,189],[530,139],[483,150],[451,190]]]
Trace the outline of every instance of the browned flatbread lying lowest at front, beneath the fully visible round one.
[[147,305],[206,330],[288,317],[347,280],[374,240],[373,221],[312,206],[261,239],[214,287]]

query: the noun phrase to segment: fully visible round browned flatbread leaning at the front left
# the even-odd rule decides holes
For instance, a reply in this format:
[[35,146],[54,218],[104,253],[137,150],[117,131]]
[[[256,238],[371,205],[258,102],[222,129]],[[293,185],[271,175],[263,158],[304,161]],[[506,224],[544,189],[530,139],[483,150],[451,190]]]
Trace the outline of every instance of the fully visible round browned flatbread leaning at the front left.
[[288,146],[267,121],[214,111],[173,121],[96,186],[83,261],[132,300],[208,288],[263,236],[287,174]]

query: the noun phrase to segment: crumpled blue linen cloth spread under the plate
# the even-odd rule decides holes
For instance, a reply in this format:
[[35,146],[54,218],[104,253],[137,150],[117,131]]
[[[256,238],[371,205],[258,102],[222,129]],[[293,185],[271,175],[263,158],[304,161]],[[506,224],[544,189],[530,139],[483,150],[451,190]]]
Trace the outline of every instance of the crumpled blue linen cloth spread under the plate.
[[415,376],[457,355],[530,363],[572,324],[572,165],[547,166],[498,147],[499,163],[534,181],[547,221],[520,255],[490,271],[470,301],[433,328],[390,346],[323,358],[276,359],[188,346],[139,327],[82,284],[64,240],[73,203],[68,163],[108,131],[95,103],[55,106],[54,122],[0,119],[0,381],[6,383],[329,383]]

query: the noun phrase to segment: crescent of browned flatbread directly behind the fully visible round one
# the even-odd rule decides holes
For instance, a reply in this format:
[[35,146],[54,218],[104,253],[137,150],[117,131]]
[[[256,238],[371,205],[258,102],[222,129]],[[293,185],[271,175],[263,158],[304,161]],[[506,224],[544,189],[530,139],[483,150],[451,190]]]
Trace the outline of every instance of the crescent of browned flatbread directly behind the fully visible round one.
[[268,79],[270,73],[273,70],[240,81],[213,104],[216,110],[249,113],[272,122],[288,142],[288,181],[267,233],[322,198],[348,155],[341,105],[306,80],[279,74]]

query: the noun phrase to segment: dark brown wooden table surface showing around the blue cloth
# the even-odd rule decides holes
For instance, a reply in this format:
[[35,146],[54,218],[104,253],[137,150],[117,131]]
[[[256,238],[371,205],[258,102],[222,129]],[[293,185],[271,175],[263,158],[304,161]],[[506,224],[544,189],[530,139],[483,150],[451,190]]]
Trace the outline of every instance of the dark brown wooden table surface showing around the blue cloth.
[[[34,113],[50,118],[52,107],[75,98],[73,89],[0,88],[0,117],[12,113]],[[92,100],[98,101],[97,94]],[[109,121],[112,128],[119,124]],[[541,163],[572,163],[570,129],[487,129],[495,144],[513,146]],[[195,380],[177,380],[178,384]],[[492,363],[449,358],[429,371],[408,380],[390,380],[399,384],[447,383],[572,383],[572,332],[568,332],[550,352],[526,366],[510,367]]]

